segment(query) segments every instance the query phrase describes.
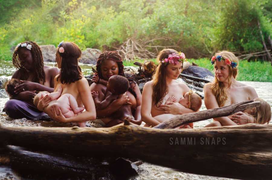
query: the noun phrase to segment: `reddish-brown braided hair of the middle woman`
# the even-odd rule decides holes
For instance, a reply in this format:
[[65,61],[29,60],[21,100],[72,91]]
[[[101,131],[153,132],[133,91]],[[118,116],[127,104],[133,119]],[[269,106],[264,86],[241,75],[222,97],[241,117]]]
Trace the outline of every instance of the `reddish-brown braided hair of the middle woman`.
[[[118,65],[118,75],[124,76],[129,80],[130,85],[132,83],[137,83],[137,80],[133,77],[127,77],[124,74],[124,65],[123,60],[121,56],[116,51],[104,51],[101,53],[96,61],[96,76],[98,76],[100,79],[103,79],[102,72],[101,72],[101,65],[102,61],[105,60],[112,60],[115,61]],[[137,97],[135,91],[129,86],[128,91],[131,92],[131,94],[134,95],[134,97]]]

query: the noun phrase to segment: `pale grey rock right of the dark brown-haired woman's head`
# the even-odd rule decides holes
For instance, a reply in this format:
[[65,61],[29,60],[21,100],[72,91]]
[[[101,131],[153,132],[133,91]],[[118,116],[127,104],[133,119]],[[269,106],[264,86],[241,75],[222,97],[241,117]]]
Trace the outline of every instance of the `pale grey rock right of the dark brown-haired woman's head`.
[[96,64],[96,60],[102,52],[98,49],[87,48],[79,58],[80,63]]

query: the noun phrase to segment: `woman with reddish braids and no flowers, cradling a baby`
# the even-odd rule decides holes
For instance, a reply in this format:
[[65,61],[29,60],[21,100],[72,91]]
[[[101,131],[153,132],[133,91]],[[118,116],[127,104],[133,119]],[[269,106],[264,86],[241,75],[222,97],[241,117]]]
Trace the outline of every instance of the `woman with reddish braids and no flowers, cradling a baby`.
[[[105,99],[105,94],[107,91],[107,82],[108,79],[113,75],[124,75],[124,65],[121,56],[115,51],[104,51],[102,54],[99,55],[99,58],[96,62],[96,76],[93,79],[94,82],[90,89],[91,91],[98,92],[99,94],[99,101]],[[118,99],[112,101],[108,107],[105,109],[96,109],[96,114],[98,119],[95,122],[99,122],[100,124],[106,126],[113,126],[116,124],[122,123],[120,120],[113,120],[109,117],[111,114],[116,112],[122,105],[130,104],[131,111],[135,118],[130,119],[130,121],[134,124],[141,124],[141,92],[136,83],[136,79],[127,77],[130,82],[130,86],[128,91],[125,94],[119,95]]]

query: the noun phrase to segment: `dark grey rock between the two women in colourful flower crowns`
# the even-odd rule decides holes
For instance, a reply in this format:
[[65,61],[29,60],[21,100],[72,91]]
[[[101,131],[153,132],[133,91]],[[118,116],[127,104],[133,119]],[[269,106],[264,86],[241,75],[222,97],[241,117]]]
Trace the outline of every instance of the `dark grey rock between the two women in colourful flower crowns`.
[[184,69],[183,74],[189,75],[189,76],[194,76],[198,78],[205,78],[206,76],[214,76],[212,72],[210,72],[206,68],[202,68],[199,66],[189,66],[187,69]]

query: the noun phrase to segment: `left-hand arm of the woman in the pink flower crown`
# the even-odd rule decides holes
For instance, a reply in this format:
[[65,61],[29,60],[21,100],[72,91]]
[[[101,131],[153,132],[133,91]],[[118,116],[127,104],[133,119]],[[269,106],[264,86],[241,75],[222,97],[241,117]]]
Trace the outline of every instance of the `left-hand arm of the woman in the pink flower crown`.
[[151,116],[152,94],[153,94],[152,81],[149,81],[145,83],[144,89],[143,89],[141,117],[142,117],[142,121],[144,121],[149,126],[154,127],[160,124],[160,122]]

